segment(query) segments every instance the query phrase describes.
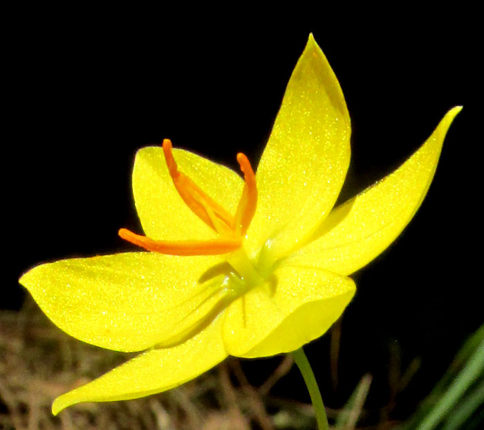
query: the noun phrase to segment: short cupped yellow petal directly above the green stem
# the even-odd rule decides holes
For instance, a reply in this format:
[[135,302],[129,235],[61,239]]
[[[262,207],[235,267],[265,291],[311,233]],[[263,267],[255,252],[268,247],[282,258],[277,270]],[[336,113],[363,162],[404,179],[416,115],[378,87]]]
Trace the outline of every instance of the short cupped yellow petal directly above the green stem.
[[350,278],[317,267],[280,267],[225,311],[227,353],[252,358],[296,350],[322,336],[354,293]]

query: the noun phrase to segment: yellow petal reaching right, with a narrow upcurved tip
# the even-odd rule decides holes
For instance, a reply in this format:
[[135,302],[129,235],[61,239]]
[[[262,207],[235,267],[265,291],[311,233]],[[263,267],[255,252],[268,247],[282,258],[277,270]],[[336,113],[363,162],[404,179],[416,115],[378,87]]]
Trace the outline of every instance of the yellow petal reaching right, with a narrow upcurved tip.
[[451,109],[434,133],[398,170],[342,204],[326,218],[321,237],[288,262],[349,275],[386,249],[410,222],[429,189],[447,129],[461,107]]

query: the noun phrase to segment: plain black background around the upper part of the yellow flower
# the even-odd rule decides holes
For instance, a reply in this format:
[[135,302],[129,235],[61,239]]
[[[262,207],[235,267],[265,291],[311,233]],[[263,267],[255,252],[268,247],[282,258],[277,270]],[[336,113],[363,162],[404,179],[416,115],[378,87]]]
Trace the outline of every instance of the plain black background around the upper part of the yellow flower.
[[[389,346],[396,344],[404,365],[422,357],[411,387],[417,398],[409,400],[418,401],[483,320],[482,53],[472,10],[380,10],[351,20],[344,10],[317,19],[306,11],[257,23],[234,12],[215,22],[204,15],[197,24],[146,12],[43,9],[15,17],[3,66],[1,307],[21,305],[17,280],[39,262],[132,249],[117,231],[140,231],[130,184],[139,147],[171,138],[233,168],[239,151],[257,164],[312,31],[353,122],[342,199],[391,172],[449,108],[464,106],[416,217],[353,276],[358,290],[342,323],[342,389],[326,402],[347,398],[366,372],[375,375],[370,402],[384,402]],[[268,28],[273,21],[279,24]],[[331,397],[327,343],[306,349]],[[257,379],[266,364],[246,366]]]

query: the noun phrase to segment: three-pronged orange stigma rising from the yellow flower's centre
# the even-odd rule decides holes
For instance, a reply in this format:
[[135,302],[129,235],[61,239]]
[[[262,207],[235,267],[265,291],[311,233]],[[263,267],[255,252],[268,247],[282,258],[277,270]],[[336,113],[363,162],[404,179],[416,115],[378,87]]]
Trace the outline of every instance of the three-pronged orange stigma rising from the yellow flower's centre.
[[171,256],[208,256],[239,249],[257,207],[255,174],[247,156],[241,152],[237,154],[237,161],[244,176],[244,186],[236,213],[231,215],[203,192],[192,179],[178,170],[171,149],[171,141],[165,139],[163,154],[178,194],[190,210],[214,230],[218,237],[212,240],[153,240],[127,229],[120,229],[120,237],[148,251]]

